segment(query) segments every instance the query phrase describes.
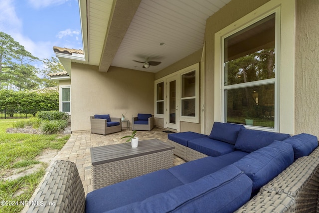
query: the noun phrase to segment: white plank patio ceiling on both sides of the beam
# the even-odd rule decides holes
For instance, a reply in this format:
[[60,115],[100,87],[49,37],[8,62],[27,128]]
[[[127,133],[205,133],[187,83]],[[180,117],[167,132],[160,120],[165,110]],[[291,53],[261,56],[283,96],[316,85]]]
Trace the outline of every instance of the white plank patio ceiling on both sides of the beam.
[[[158,72],[199,50],[203,46],[206,19],[229,1],[142,0],[111,65]],[[85,2],[80,0],[80,7],[85,6]],[[113,0],[88,0],[87,10],[81,9],[88,64],[100,63],[112,4]],[[87,14],[83,14],[85,12]],[[83,15],[87,15],[87,27]],[[133,61],[144,61],[145,57],[150,61],[161,61],[161,64],[145,69],[143,63]]]

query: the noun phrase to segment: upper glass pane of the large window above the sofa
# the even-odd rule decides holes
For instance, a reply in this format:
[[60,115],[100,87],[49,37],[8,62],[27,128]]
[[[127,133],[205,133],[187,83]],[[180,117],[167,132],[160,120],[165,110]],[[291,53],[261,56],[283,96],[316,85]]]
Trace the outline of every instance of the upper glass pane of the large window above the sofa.
[[224,40],[224,85],[275,78],[275,14]]

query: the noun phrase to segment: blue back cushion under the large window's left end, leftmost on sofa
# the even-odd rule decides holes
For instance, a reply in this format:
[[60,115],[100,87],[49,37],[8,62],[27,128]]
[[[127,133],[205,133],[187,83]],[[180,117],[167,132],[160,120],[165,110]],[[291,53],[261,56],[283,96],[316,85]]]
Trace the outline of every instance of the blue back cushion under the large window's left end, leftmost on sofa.
[[214,122],[209,137],[234,145],[240,129],[245,127],[239,124]]

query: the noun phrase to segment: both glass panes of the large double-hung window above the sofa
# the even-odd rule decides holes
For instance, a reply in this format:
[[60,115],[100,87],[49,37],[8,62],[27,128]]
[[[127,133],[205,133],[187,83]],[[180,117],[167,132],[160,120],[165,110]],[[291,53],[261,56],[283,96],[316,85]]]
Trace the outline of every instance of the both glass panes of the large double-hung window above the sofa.
[[223,38],[224,121],[274,129],[276,13]]

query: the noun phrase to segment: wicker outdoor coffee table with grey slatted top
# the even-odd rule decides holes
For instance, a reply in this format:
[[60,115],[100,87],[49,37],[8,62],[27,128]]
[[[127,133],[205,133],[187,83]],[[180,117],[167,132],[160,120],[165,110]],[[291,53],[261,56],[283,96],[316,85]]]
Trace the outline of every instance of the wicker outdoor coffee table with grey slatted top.
[[93,190],[172,167],[173,149],[158,139],[91,148]]

